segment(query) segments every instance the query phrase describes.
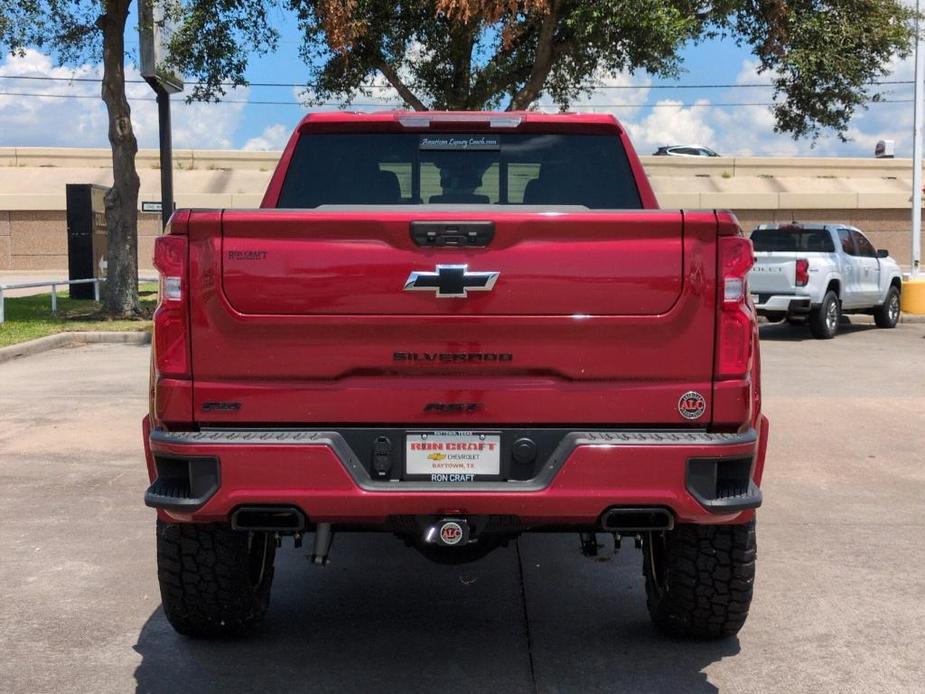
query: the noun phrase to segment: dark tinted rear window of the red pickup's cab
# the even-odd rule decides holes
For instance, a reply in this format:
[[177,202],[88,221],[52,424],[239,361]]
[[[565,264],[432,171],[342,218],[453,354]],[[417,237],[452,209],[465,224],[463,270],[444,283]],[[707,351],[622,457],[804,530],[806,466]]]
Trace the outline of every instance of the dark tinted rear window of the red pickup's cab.
[[278,207],[581,205],[640,209],[614,135],[306,134]]

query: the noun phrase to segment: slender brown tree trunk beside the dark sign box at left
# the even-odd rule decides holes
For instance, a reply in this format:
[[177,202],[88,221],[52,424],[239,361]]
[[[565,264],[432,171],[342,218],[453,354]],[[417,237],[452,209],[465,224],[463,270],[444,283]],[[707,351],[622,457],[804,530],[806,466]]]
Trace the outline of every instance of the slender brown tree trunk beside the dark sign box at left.
[[125,98],[125,23],[131,0],[103,0],[97,24],[103,32],[102,97],[109,115],[113,185],[106,194],[109,250],[103,308],[118,317],[139,313],[138,306],[138,142]]

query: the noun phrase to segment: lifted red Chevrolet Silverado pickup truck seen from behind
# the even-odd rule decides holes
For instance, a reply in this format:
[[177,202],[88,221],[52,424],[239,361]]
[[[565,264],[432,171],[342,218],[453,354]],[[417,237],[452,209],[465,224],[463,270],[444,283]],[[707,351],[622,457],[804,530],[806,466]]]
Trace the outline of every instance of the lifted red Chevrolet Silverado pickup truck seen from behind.
[[317,113],[259,210],[181,210],[144,443],[179,632],[263,617],[277,547],[524,532],[642,548],[668,633],[745,621],[768,440],[750,242],[660,210],[609,115]]

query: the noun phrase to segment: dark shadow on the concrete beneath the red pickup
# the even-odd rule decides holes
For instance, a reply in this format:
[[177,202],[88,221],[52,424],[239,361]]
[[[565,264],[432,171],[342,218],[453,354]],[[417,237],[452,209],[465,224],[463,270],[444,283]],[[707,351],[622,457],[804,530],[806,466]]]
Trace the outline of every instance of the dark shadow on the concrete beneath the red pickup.
[[248,639],[184,638],[158,608],[135,645],[137,691],[715,692],[704,668],[739,650],[658,635],[631,548],[595,562],[572,535],[539,535],[454,567],[339,535],[332,557],[320,569],[282,550]]

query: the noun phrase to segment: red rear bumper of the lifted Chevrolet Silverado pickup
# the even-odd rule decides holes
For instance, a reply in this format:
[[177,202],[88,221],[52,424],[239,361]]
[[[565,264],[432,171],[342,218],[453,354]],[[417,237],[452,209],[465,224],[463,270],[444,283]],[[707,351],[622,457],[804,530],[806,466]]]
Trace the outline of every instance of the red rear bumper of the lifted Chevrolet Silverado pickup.
[[[177,520],[227,521],[240,507],[288,506],[312,522],[384,523],[389,516],[516,515],[526,524],[603,522],[611,507],[661,507],[678,522],[723,523],[761,504],[761,435],[609,431],[565,436],[532,480],[438,484],[378,481],[333,431],[148,431],[150,506]],[[211,494],[152,495],[163,459],[219,461]],[[218,480],[218,471],[216,471]],[[189,484],[187,485],[190,486]],[[651,511],[651,508],[649,509]]]

